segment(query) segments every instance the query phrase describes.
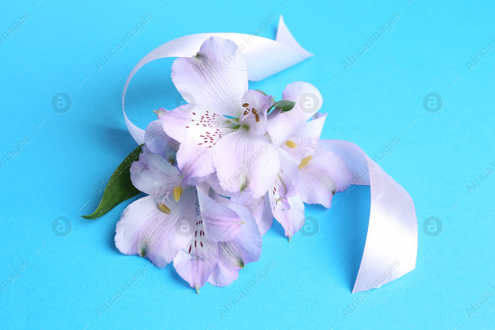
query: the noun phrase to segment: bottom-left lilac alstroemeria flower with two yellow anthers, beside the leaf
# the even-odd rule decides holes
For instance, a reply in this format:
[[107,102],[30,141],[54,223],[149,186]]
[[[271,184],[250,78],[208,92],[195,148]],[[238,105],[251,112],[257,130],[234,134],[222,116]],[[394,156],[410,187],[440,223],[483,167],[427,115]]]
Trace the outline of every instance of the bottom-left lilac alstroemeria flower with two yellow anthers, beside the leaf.
[[[148,126],[152,141],[157,127]],[[117,248],[148,257],[159,268],[173,261],[179,275],[197,291],[206,281],[216,286],[232,283],[239,270],[261,254],[261,236],[252,215],[206,183],[185,184],[169,161],[146,146],[143,150],[131,165],[131,180],[148,196],[122,213]]]

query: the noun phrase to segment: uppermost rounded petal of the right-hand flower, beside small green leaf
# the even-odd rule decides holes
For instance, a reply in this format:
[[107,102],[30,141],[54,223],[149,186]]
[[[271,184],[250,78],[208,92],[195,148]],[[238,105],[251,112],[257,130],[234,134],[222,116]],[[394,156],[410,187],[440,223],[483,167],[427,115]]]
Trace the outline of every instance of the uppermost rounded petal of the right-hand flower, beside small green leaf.
[[282,99],[296,102],[296,105],[290,111],[272,111],[268,115],[268,134],[275,146],[292,136],[323,103],[318,89],[301,81],[288,85],[282,93]]

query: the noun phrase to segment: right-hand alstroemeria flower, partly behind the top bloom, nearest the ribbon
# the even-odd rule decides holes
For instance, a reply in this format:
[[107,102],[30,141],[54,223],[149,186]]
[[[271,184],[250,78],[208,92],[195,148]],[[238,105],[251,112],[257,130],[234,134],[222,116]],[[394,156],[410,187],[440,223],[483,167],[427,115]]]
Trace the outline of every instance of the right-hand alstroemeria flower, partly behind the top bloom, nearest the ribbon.
[[326,115],[315,115],[317,118],[307,121],[314,112],[300,108],[299,100],[305,94],[317,100],[319,109],[323,100],[318,90],[296,82],[283,93],[283,99],[296,102],[294,109],[275,110],[268,115],[268,133],[276,141],[281,163],[274,185],[264,197],[252,198],[242,193],[235,198],[251,211],[262,235],[271,227],[274,217],[290,240],[304,223],[304,202],[329,208],[333,195],[347,189],[351,179],[344,160],[318,145]]

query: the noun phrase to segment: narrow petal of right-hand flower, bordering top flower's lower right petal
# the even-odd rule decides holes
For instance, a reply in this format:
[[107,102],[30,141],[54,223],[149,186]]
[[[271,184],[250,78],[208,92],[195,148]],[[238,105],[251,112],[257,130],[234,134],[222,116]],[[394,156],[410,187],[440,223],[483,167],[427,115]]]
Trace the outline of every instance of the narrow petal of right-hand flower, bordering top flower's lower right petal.
[[299,173],[297,164],[289,154],[277,148],[280,157],[280,171],[275,179],[275,189],[280,196],[292,197],[299,193]]

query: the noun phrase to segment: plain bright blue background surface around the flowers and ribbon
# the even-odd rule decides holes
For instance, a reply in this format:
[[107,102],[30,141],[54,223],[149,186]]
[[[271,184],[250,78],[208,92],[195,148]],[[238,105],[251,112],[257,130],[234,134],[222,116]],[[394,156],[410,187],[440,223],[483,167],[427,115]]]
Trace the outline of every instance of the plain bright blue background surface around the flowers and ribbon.
[[[1,5],[2,33],[22,13],[30,15],[0,45],[0,157],[29,138],[21,154],[0,169],[0,280],[23,260],[29,262],[21,278],[0,293],[1,329],[494,327],[495,297],[471,317],[466,311],[488,290],[495,293],[490,287],[495,284],[495,174],[471,194],[466,189],[487,167],[495,169],[490,164],[495,162],[495,50],[472,71],[466,65],[488,43],[495,46],[493,4],[161,1]],[[148,12],[153,18],[146,30],[98,71],[99,56]],[[320,223],[314,237],[297,234],[288,243],[275,224],[263,237],[259,262],[248,264],[230,286],[206,284],[198,295],[172,266],[152,267],[98,318],[99,304],[147,262],[119,253],[113,242],[129,201],[97,220],[80,217],[98,205],[100,180],[136,146],[120,104],[127,75],[140,57],[169,40],[202,32],[252,33],[272,12],[284,15],[297,41],[315,56],[250,87],[280,97],[289,82],[315,85],[324,98],[322,111],[329,112],[323,138],[353,141],[371,157],[400,138],[379,164],[414,200],[416,269],[375,290],[344,316],[347,304],[361,295],[350,291],[369,216],[369,188],[357,187],[337,194],[326,212],[306,208]],[[342,61],[396,12],[400,19],[393,30],[346,71]],[[261,36],[274,39],[277,24]],[[155,118],[151,110],[175,104],[172,61],[150,63],[130,85],[126,106],[141,127]],[[422,106],[423,97],[433,92],[445,102],[435,114]],[[51,108],[56,93],[71,96],[67,113]],[[72,222],[66,237],[51,231],[59,216]],[[430,216],[443,221],[440,236],[423,232]],[[269,277],[222,318],[219,309],[271,260],[277,266]]]

